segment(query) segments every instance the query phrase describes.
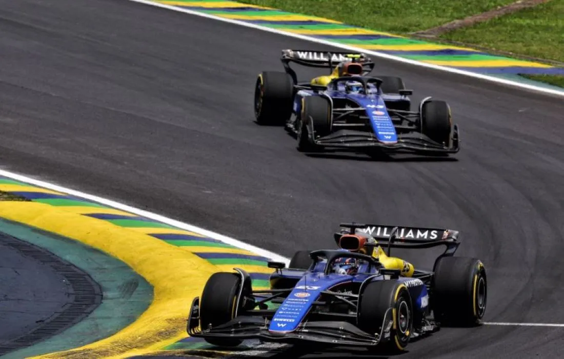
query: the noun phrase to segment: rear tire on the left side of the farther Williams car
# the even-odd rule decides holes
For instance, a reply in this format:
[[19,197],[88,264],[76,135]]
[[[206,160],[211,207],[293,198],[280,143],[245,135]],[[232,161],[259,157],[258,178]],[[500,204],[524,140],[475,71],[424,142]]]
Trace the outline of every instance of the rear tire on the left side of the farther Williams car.
[[259,125],[283,125],[292,115],[294,85],[285,72],[263,71],[254,90],[254,116]]

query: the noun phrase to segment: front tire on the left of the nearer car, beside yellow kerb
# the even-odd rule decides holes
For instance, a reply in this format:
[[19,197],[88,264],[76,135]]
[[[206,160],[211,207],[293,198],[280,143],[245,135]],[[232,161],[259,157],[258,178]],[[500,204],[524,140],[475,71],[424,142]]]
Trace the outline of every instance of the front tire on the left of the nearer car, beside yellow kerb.
[[[214,273],[206,282],[200,298],[200,328],[205,330],[225,324],[235,318],[237,299],[241,288],[241,277],[235,273]],[[218,347],[236,347],[243,343],[239,339],[210,339],[205,341]]]

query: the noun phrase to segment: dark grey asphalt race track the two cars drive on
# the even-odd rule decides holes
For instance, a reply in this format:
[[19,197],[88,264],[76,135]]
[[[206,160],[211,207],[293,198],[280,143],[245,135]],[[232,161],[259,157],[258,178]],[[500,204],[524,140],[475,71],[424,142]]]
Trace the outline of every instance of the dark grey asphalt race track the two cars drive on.
[[[415,103],[450,103],[461,152],[309,157],[253,122],[254,81],[281,49],[325,46],[125,0],[0,5],[3,168],[286,256],[333,247],[341,221],[450,227],[487,266],[487,321],[564,323],[562,99],[377,60]],[[403,357],[558,357],[563,334],[446,329]]]

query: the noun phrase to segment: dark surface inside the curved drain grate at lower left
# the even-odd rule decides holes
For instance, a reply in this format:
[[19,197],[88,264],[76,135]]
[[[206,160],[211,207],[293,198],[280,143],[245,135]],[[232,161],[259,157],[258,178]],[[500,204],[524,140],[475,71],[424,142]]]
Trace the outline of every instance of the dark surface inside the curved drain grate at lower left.
[[68,303],[65,278],[12,243],[0,234],[0,356]]

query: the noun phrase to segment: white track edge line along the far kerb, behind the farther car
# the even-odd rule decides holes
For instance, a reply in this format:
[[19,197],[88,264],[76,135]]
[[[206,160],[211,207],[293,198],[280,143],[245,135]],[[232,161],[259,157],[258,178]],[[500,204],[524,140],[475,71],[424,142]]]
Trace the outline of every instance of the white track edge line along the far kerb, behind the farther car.
[[328,41],[328,40],[321,40],[321,39],[315,38],[315,37],[284,32],[283,30],[271,29],[271,28],[263,27],[261,25],[245,23],[245,21],[240,21],[240,20],[226,19],[224,17],[205,14],[203,12],[188,10],[186,8],[180,8],[180,7],[176,7],[176,6],[172,6],[172,5],[165,5],[165,4],[154,2],[154,1],[151,1],[151,0],[129,0],[129,1],[133,1],[133,2],[136,2],[136,3],[142,3],[142,4],[150,5],[150,6],[155,6],[155,7],[166,8],[168,10],[173,10],[173,11],[177,11],[177,12],[184,12],[184,14],[206,17],[208,19],[223,21],[224,23],[236,24],[236,25],[240,25],[240,26],[243,26],[243,27],[246,27],[246,28],[253,28],[253,29],[271,32],[271,33],[275,33],[275,34],[279,34],[279,35],[283,35],[283,36],[298,38],[298,39],[304,40],[304,41],[310,41],[310,42],[320,43],[320,44],[323,44],[323,45],[338,47],[338,48],[344,49],[344,50],[355,51],[355,52],[364,52],[365,54],[371,54],[371,55],[374,55],[374,56],[377,56],[377,57],[380,57],[380,58],[394,60],[394,61],[402,62],[402,63],[406,63],[406,64],[411,64],[411,65],[416,65],[416,66],[426,67],[426,68],[432,68],[432,69],[440,70],[440,71],[444,71],[444,72],[456,73],[458,75],[480,78],[481,80],[495,82],[496,84],[509,85],[509,86],[514,86],[514,87],[519,87],[521,89],[527,89],[527,90],[537,91],[537,92],[540,92],[540,93],[564,97],[564,90],[559,91],[559,90],[556,90],[556,89],[548,89],[548,88],[545,88],[545,87],[528,85],[528,84],[524,84],[524,83],[521,83],[521,82],[504,80],[503,78],[498,78],[498,77],[493,77],[493,76],[488,76],[488,75],[482,75],[481,73],[463,71],[463,70],[450,68],[450,67],[446,67],[446,66],[422,63],[422,62],[418,62],[418,61],[415,61],[415,60],[404,59],[404,58],[401,58],[399,56],[385,54],[384,52],[367,50],[367,49],[362,49],[360,47],[343,45],[342,43],[331,42],[331,41]]

